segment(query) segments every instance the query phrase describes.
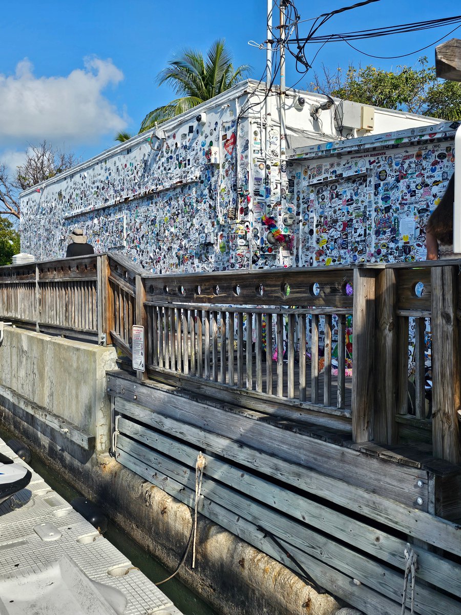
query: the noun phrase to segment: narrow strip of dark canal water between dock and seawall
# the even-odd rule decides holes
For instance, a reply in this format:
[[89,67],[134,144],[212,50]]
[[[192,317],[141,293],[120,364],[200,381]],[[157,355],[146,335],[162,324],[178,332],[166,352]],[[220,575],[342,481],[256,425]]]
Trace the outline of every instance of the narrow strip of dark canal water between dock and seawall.
[[[14,436],[0,429],[0,437],[7,442]],[[40,459],[33,456],[30,466],[66,501],[70,502],[72,499],[82,495],[63,480],[57,478],[55,473],[51,472]],[[114,523],[109,522],[104,538],[117,547],[132,562],[133,566],[140,568],[152,582],[157,583],[170,576],[170,571],[144,551],[124,530]],[[187,564],[184,563],[183,566],[185,565]],[[200,600],[194,592],[178,581],[176,577],[160,585],[160,589],[184,615],[218,615],[216,611],[213,611],[210,606]]]

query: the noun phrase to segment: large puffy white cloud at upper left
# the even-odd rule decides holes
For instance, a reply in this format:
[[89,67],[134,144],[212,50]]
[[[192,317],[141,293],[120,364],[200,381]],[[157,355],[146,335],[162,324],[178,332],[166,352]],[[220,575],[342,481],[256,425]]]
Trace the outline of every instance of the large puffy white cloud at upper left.
[[112,60],[85,58],[84,69],[65,77],[36,77],[25,58],[14,75],[0,74],[0,139],[96,141],[127,125],[103,95],[124,78]]

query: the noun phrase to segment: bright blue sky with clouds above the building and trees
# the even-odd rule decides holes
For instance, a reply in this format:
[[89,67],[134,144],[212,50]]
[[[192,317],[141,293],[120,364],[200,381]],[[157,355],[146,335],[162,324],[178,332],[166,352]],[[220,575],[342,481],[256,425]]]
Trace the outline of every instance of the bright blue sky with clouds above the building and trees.
[[[318,3],[296,0],[302,19],[354,4],[355,0]],[[408,5],[380,0],[332,18],[318,34],[377,28],[386,25],[449,17],[454,4],[422,0]],[[301,36],[309,23],[300,25]],[[357,47],[374,55],[411,52],[438,38],[450,28],[358,41]],[[461,36],[450,34],[447,38]],[[184,46],[206,50],[216,38],[226,38],[235,65],[253,66],[259,79],[265,52],[248,45],[266,38],[266,0],[159,2],[157,0],[23,0],[2,3],[0,54],[0,161],[14,168],[28,143],[47,138],[53,145],[73,150],[87,159],[114,145],[114,135],[124,129],[136,133],[148,111],[168,102],[173,92],[158,88],[156,74],[171,54]],[[310,46],[310,57],[318,47]],[[331,69],[373,63],[390,68],[412,65],[420,55],[433,63],[434,47],[401,60],[367,58],[345,43],[321,49],[321,63]],[[309,55],[308,55],[309,58]],[[299,75],[287,58],[286,82]],[[308,89],[310,76],[297,87]]]

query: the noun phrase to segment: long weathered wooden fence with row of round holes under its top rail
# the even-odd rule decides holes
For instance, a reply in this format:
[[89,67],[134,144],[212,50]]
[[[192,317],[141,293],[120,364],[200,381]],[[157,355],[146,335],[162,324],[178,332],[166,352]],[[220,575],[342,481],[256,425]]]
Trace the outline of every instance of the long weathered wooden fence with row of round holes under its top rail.
[[338,426],[355,442],[433,443],[457,463],[459,271],[438,261],[154,276],[110,253],[0,268],[0,318],[112,343],[128,359],[143,325],[140,379]]

